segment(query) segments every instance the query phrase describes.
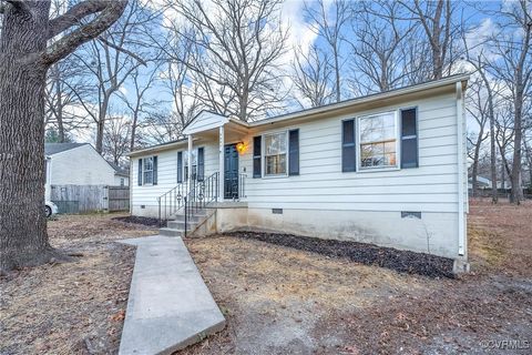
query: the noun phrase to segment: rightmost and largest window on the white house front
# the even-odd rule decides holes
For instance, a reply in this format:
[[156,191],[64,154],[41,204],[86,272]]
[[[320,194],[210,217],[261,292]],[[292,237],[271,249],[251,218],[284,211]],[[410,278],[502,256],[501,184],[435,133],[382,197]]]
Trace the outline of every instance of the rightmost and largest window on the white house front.
[[397,122],[393,112],[359,119],[360,169],[397,166]]

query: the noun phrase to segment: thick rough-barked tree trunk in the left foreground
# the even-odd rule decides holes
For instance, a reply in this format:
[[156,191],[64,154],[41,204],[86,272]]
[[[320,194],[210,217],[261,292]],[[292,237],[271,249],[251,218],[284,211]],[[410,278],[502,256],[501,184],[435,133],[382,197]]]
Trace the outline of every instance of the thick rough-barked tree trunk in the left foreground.
[[7,9],[0,42],[0,271],[59,257],[48,243],[43,201],[48,68],[24,61],[45,49],[50,2],[31,7]]

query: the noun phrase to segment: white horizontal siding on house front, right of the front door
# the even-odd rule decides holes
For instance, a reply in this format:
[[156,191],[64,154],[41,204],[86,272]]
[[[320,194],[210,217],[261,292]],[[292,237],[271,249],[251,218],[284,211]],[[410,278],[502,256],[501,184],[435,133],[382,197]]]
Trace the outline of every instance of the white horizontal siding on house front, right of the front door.
[[[341,120],[418,106],[419,168],[341,172]],[[401,105],[284,126],[299,129],[299,175],[248,179],[252,209],[457,212],[457,116],[453,93]],[[278,131],[279,129],[277,129]],[[272,129],[272,132],[275,132]],[[268,131],[255,132],[266,134]],[[250,142],[253,138],[247,140]],[[359,142],[357,142],[359,144]],[[253,152],[241,155],[252,171]]]

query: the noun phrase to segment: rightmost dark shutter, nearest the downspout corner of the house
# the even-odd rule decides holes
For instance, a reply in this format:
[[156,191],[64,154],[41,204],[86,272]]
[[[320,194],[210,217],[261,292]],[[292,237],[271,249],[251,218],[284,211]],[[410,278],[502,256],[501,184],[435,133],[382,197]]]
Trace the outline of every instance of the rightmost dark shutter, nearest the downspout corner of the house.
[[401,168],[418,168],[417,109],[401,110]]

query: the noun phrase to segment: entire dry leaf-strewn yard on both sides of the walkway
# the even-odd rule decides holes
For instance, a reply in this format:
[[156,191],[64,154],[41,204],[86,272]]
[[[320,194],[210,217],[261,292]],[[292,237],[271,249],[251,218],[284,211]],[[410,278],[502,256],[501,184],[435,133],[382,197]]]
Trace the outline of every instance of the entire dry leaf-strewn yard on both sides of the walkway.
[[[227,327],[181,354],[530,354],[483,341],[532,343],[532,204],[471,203],[472,273],[400,274],[232,236],[186,244]],[[78,261],[0,280],[0,354],[116,353],[134,250],[155,230],[110,215],[60,216],[54,246]]]

